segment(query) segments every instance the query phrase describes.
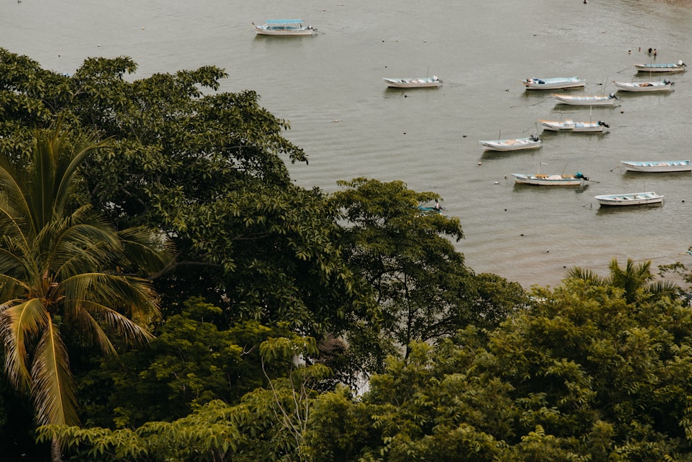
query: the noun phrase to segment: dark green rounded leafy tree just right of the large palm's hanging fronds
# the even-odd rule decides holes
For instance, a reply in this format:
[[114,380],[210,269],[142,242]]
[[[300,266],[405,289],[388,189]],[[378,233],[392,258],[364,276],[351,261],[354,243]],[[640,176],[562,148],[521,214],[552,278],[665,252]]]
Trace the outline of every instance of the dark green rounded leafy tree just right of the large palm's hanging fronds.
[[78,377],[86,425],[134,429],[148,421],[176,420],[212,400],[229,405],[285,374],[263,369],[260,344],[290,335],[285,326],[255,321],[227,330],[215,325],[221,309],[200,299],[166,319],[149,348],[105,357]]

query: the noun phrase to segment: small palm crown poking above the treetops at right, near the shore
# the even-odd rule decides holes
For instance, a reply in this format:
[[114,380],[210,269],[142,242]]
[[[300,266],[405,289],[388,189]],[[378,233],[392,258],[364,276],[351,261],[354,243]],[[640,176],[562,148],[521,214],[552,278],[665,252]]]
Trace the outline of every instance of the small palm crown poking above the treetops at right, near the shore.
[[595,274],[590,269],[573,267],[567,272],[568,278],[582,279],[594,285],[612,285],[624,291],[625,301],[633,303],[639,299],[641,291],[649,296],[671,296],[680,294],[680,287],[667,281],[657,281],[651,283],[655,275],[651,273],[651,262],[635,264],[631,258],[627,259],[625,268],[621,268],[617,263],[617,258],[610,260],[608,265],[610,276],[603,278]]

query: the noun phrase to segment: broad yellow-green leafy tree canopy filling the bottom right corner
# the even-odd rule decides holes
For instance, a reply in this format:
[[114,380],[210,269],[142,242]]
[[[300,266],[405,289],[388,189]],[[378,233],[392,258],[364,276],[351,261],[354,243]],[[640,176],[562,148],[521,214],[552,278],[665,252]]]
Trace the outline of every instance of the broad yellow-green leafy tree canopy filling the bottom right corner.
[[313,461],[692,461],[692,312],[567,278],[313,405]]

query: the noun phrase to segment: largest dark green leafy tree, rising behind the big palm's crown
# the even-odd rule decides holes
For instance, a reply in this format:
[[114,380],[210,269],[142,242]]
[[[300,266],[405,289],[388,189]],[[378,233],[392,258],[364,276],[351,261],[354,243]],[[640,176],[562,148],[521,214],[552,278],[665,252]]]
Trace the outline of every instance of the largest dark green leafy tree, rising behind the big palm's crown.
[[174,242],[174,263],[154,278],[172,313],[205,296],[227,325],[286,321],[315,335],[370,317],[325,197],[289,177],[284,159],[307,162],[282,136],[289,122],[254,91],[217,93],[226,73],[215,66],[127,78],[136,69],[90,58],[67,78],[0,49],[0,89],[13,94],[0,152],[26,150],[26,130],[57,114],[110,137],[84,163],[82,191],[118,228],[155,226]]

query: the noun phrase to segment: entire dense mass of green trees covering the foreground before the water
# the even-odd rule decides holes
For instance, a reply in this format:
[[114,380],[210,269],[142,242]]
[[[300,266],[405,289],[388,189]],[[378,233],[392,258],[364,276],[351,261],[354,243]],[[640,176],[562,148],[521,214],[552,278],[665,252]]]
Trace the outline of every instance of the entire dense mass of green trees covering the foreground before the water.
[[[285,161],[307,156],[282,135],[289,123],[253,91],[218,93],[222,69],[134,71],[90,58],[60,75],[0,48],[0,166],[20,178],[0,181],[0,313],[33,299],[45,314],[0,326],[3,456],[47,460],[53,443],[58,460],[62,443],[71,461],[692,461],[691,311],[649,263],[574,268],[529,297],[466,267],[458,218],[419,208],[434,192],[293,184]],[[66,149],[37,148],[51,126]],[[50,171],[38,154],[96,139],[45,231],[28,229],[50,207],[17,208],[22,188],[55,192],[27,176]],[[63,275],[90,267],[100,285],[69,289]],[[116,278],[147,296],[116,296],[104,285]],[[84,328],[106,296],[115,310]],[[48,396],[29,366],[47,328],[70,362],[38,365],[78,385],[62,420],[15,393]]]

